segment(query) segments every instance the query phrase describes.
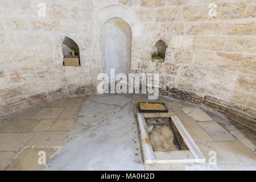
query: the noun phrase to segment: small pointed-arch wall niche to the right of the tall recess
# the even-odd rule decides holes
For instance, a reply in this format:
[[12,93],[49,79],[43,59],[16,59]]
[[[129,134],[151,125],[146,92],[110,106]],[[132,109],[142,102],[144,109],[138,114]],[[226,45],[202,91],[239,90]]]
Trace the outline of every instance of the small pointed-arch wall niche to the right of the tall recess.
[[163,62],[166,58],[166,43],[163,40],[158,40],[152,51],[151,60],[154,62]]

